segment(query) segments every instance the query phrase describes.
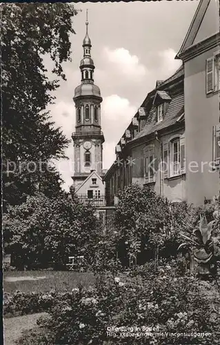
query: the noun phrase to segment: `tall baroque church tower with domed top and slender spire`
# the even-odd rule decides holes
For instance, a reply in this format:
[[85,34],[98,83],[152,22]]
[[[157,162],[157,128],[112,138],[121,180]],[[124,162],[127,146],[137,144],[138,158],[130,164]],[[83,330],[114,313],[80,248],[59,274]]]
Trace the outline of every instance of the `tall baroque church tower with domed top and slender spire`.
[[74,187],[79,189],[92,171],[100,177],[102,170],[103,132],[101,132],[101,93],[94,85],[94,62],[91,57],[91,40],[88,36],[88,13],[86,12],[86,37],[83,39],[81,59],[81,84],[74,90],[76,108],[74,142]]

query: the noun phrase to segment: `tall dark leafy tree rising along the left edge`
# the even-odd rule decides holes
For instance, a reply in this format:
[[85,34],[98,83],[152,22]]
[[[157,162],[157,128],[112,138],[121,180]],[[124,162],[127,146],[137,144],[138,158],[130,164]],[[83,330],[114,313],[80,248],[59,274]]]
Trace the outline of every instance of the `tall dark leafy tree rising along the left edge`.
[[[32,178],[40,179],[40,160],[48,164],[65,157],[68,139],[54,127],[46,107],[59,79],[66,79],[61,64],[70,60],[75,14],[68,3],[1,3],[3,193],[9,204],[25,201],[24,190],[30,195],[28,162],[37,164]],[[48,78],[44,57],[52,61],[54,80]],[[13,163],[7,166],[7,161]],[[6,174],[7,169],[13,172]]]

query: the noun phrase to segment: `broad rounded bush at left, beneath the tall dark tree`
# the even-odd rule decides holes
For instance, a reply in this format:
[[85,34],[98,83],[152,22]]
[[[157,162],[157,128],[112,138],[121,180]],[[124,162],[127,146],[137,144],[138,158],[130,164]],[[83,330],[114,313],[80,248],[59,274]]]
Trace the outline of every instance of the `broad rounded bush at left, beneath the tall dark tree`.
[[49,262],[63,267],[72,255],[84,255],[90,264],[97,228],[94,209],[67,195],[49,199],[39,193],[26,203],[10,206],[3,217],[6,250],[17,268],[46,267]]

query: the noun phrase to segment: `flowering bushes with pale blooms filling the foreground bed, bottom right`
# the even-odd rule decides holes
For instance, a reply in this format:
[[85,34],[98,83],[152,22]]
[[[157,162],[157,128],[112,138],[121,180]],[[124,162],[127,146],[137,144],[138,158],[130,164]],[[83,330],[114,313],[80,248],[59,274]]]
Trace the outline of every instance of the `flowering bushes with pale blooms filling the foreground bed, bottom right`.
[[[44,335],[42,344],[152,344],[153,339],[160,345],[220,343],[215,282],[181,275],[175,262],[163,263],[157,273],[151,263],[142,275],[134,271],[118,275],[106,271],[105,276],[97,275],[93,287],[74,288],[62,298],[54,295],[56,300],[48,309],[50,318],[39,322],[48,339]],[[160,335],[126,336],[108,331],[112,326],[143,330],[157,326]],[[179,336],[166,334],[169,332]],[[204,332],[211,335],[198,335]],[[37,341],[39,344],[39,338]]]

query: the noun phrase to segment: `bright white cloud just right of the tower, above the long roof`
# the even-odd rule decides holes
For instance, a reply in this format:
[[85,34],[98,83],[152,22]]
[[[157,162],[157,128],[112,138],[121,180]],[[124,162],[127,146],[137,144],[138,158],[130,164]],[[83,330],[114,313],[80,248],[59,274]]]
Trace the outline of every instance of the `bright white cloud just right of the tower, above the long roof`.
[[101,128],[106,142],[103,144],[103,168],[110,168],[115,159],[114,148],[137,109],[130,101],[119,95],[103,98]]

